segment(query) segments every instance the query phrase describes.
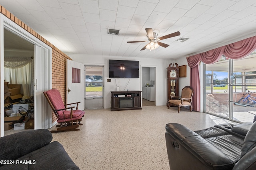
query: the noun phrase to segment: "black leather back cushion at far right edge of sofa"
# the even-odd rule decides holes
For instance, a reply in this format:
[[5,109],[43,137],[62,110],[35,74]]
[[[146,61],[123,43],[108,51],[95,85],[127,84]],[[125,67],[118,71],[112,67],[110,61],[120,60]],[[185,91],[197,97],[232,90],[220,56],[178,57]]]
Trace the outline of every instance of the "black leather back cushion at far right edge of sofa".
[[242,158],[246,153],[250,152],[256,146],[256,122],[252,124],[252,127],[246,134],[244,138],[244,145],[242,147],[242,152],[240,158]]

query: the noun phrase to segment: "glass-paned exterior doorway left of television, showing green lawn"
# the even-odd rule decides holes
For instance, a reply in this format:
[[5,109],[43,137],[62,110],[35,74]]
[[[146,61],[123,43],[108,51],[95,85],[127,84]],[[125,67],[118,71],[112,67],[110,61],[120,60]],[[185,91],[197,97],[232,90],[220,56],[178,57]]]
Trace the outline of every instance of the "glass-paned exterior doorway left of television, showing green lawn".
[[84,66],[85,91],[84,108],[85,109],[103,109],[104,108],[104,66]]

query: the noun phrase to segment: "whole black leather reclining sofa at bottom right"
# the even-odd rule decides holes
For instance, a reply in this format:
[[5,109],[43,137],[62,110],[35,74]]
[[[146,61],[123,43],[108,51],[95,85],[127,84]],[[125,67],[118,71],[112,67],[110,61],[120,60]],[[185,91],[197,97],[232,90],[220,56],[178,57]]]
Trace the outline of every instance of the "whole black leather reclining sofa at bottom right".
[[165,137],[170,170],[256,170],[256,123],[199,131],[169,123]]

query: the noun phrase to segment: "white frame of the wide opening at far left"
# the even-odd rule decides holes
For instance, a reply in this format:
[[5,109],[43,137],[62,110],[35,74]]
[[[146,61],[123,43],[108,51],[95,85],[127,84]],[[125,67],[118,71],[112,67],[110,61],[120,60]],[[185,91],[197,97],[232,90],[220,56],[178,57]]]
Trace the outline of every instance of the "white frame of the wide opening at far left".
[[[46,99],[43,98],[43,94],[39,92],[39,90],[44,91],[52,88],[52,48],[46,45],[45,43],[43,43],[42,41],[40,41],[40,39],[37,39],[36,37],[34,37],[34,35],[32,35],[28,31],[26,31],[25,29],[17,25],[16,23],[14,23],[12,20],[7,18],[3,14],[0,14],[0,71],[1,71],[0,90],[1,92],[4,92],[4,28],[8,29],[12,33],[15,33],[16,35],[19,35],[20,37],[24,38],[26,41],[29,41],[34,45],[38,45],[40,47],[47,49],[47,55],[46,55],[47,59],[44,60],[46,62],[45,63],[46,66],[44,68],[44,71],[41,72],[41,77],[40,77],[41,88],[38,89],[37,92],[35,91],[35,94],[38,93],[40,94],[40,96],[37,96],[36,98],[34,98],[34,103],[40,104],[41,110],[38,111],[40,112],[40,115],[38,115],[38,118],[35,119],[34,129],[46,129],[46,128],[48,129],[52,127],[52,111],[48,106],[48,104],[46,104],[47,103]],[[36,53],[37,52],[35,51],[35,54]],[[35,56],[35,59],[36,57],[37,56]],[[42,53],[40,57],[42,58]],[[35,65],[35,69],[36,69],[36,65]],[[36,80],[36,77],[35,77],[35,80]],[[36,85],[36,82],[34,82],[34,84]],[[2,137],[4,136],[4,93],[0,93],[0,97],[1,97],[0,137]],[[37,108],[35,106],[34,110],[36,109]],[[47,117],[47,121],[41,119],[42,115]]]

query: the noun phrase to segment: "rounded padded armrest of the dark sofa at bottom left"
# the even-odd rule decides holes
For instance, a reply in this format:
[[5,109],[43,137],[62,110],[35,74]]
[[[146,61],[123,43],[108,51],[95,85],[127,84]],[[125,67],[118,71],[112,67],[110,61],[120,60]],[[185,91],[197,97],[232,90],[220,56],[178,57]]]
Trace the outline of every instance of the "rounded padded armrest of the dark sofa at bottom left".
[[15,160],[48,145],[51,141],[52,133],[48,129],[22,131],[1,137],[0,160]]

